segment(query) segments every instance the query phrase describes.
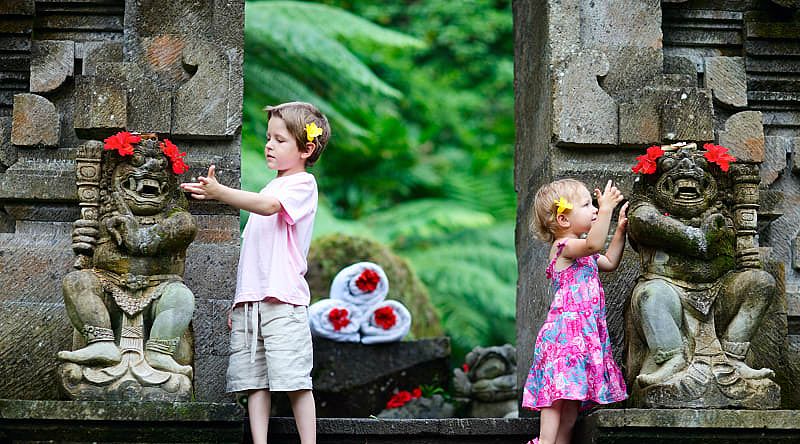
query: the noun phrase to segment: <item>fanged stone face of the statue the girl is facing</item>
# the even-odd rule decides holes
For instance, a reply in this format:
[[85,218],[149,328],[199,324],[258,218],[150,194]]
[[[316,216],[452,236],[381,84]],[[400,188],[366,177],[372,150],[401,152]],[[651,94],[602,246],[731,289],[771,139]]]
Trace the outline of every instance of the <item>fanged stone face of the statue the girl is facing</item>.
[[716,200],[717,181],[708,162],[696,150],[664,153],[658,159],[661,176],[655,185],[656,203],[672,215],[694,217]]

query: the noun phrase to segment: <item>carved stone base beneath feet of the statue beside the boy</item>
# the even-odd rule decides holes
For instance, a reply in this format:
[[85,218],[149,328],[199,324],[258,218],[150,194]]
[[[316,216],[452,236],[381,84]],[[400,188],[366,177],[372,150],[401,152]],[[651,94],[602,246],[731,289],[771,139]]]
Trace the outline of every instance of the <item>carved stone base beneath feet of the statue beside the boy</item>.
[[[119,366],[117,366],[119,367]],[[58,368],[60,388],[73,400],[115,401],[189,401],[192,381],[185,375],[150,369],[150,378],[136,375],[127,368],[121,375],[110,369],[116,367],[91,367],[75,363],[61,364]],[[149,366],[148,366],[149,368]],[[106,376],[98,381],[98,375]],[[158,378],[152,378],[157,375]],[[148,381],[149,380],[149,381]],[[97,382],[96,382],[97,381]]]

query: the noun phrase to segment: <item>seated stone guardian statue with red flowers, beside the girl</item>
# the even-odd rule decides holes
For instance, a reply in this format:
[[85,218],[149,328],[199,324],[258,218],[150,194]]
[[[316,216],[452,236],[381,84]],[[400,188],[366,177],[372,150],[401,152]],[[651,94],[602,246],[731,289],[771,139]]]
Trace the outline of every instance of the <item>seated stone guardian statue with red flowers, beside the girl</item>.
[[[777,408],[770,369],[747,360],[776,297],[756,237],[758,167],[724,147],[651,147],[638,172],[628,231],[641,259],[627,318],[634,405]],[[727,156],[727,157],[726,157]]]

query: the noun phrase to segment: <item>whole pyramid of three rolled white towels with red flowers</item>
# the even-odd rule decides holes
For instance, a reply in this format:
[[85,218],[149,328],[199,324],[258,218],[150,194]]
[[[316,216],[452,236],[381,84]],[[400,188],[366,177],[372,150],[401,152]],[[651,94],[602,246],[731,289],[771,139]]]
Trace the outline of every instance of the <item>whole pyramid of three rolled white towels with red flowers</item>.
[[311,333],[339,342],[399,341],[411,329],[411,313],[389,293],[386,273],[372,262],[345,267],[331,284],[330,299],[308,308]]

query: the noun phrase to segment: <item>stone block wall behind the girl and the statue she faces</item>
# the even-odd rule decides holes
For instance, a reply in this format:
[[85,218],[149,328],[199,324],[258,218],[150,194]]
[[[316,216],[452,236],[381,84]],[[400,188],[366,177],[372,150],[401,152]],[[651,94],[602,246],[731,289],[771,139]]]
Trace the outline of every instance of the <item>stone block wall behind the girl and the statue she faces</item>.
[[[800,5],[769,0],[516,0],[518,382],[550,295],[548,246],[529,228],[536,189],[561,177],[630,193],[653,144],[714,141],[761,168],[759,240],[781,297],[749,359],[800,406]],[[788,57],[787,57],[788,56]],[[603,275],[615,357],[638,260]]]

